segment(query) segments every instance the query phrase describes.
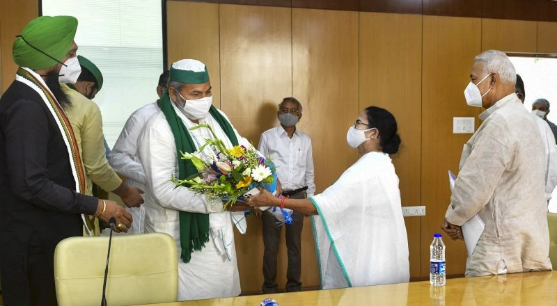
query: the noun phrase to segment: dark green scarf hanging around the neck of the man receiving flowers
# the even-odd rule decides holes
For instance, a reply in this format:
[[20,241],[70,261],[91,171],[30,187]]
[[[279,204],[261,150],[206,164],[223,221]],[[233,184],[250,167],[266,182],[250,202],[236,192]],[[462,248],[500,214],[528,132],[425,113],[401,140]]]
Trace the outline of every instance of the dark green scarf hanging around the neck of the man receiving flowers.
[[[178,114],[174,110],[168,98],[168,90],[164,92],[161,98],[161,111],[164,113],[166,121],[168,121],[172,134],[174,135],[176,152],[178,152],[178,179],[185,179],[190,175],[194,175],[198,170],[191,161],[180,159],[180,151],[192,153],[196,151],[196,146],[184,122],[182,122],[182,119],[178,117]],[[214,120],[219,122],[219,126],[223,129],[226,136],[228,136],[230,142],[233,145],[238,145],[238,138],[228,120],[226,120],[214,106],[211,106],[209,113]],[[182,261],[187,264],[191,259],[191,252],[194,252],[194,250],[201,250],[208,241],[209,214],[180,211],[180,246],[182,247],[182,254],[180,257],[182,257]]]

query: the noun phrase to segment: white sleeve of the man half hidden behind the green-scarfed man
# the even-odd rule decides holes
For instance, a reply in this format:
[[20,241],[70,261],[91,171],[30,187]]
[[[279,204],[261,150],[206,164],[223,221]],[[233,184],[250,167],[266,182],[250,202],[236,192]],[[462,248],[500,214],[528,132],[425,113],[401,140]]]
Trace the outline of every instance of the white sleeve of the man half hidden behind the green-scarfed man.
[[137,140],[144,123],[132,114],[109,155],[110,166],[116,172],[141,184],[146,184],[145,171],[133,157],[137,153]]

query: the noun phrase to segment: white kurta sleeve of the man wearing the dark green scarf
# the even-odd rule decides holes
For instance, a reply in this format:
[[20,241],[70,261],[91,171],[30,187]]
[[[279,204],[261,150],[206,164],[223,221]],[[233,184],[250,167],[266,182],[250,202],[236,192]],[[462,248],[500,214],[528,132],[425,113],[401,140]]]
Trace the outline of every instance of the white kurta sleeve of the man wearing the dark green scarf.
[[[147,186],[157,203],[166,209],[206,214],[204,195],[178,187],[171,182],[177,173],[177,152],[174,136],[163,117],[151,118],[139,139],[139,158],[143,164]],[[222,204],[216,205],[222,211]],[[211,211],[213,212],[213,211]]]

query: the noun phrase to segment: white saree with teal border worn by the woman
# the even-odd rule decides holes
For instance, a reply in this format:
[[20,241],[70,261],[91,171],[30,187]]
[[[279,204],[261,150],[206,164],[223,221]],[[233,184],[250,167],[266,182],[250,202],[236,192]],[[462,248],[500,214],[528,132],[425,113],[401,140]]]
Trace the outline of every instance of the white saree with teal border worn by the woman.
[[311,198],[322,289],[408,282],[408,241],[398,177],[388,154],[361,156]]

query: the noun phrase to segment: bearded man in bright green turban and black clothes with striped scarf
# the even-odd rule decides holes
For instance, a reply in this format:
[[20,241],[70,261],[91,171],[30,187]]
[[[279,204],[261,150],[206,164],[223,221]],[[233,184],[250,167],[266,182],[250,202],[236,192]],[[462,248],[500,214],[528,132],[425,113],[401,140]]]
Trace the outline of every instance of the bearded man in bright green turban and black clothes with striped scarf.
[[[77,19],[31,20],[13,44],[19,69],[0,98],[0,274],[4,305],[56,305],[54,248],[82,236],[88,216],[132,216],[85,193],[84,167],[61,83],[79,76]],[[91,228],[86,226],[89,234]]]

